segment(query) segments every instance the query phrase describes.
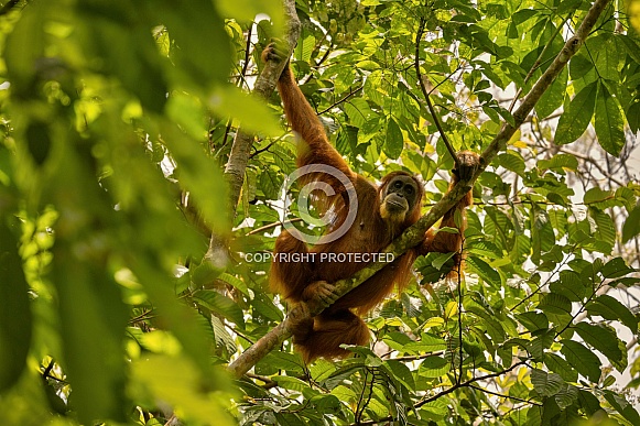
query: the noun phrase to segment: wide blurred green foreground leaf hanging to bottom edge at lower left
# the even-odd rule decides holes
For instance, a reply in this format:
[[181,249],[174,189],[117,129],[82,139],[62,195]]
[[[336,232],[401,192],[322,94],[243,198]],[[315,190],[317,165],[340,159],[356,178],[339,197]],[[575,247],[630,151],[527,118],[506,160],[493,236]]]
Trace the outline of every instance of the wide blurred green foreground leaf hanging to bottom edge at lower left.
[[56,241],[53,276],[74,404],[84,423],[97,418],[126,422],[121,348],[127,310],[120,287],[100,265],[76,258],[69,245]]

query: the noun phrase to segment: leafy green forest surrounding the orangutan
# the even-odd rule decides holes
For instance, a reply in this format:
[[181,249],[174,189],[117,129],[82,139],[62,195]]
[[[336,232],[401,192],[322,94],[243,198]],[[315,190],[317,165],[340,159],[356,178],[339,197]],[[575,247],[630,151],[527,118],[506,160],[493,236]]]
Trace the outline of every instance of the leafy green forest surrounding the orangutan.
[[[639,31],[640,0],[6,1],[2,423],[640,424]],[[420,258],[343,361],[305,365],[267,285],[304,226],[273,37],[423,226],[447,144],[486,161],[464,280]]]

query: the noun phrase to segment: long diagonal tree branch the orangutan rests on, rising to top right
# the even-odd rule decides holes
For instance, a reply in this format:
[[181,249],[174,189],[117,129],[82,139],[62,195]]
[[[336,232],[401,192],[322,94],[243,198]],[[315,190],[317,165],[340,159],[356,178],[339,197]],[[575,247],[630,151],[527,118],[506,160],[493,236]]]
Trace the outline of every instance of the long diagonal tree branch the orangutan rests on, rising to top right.
[[[446,211],[453,208],[471,188],[480,173],[488,164],[496,157],[500,150],[507,145],[507,141],[511,139],[516,130],[524,122],[540,97],[551,86],[552,81],[558,76],[560,72],[568,63],[568,59],[575,55],[578,48],[584,44],[587,35],[594,28],[598,17],[601,14],[605,7],[610,0],[596,0],[585,17],[583,23],[576,31],[576,34],[571,37],[553,61],[551,66],[540,77],[538,83],[533,86],[531,91],[523,99],[520,107],[513,113],[514,125],[503,123],[500,132],[493,138],[493,141],[481,154],[481,163],[478,171],[468,181],[458,182],[452,190],[449,190],[433,208],[417,220],[413,226],[408,228],[402,236],[397,238],[384,250],[386,253],[392,253],[395,258],[404,253],[412,247],[415,247],[424,239],[424,233],[431,228]],[[344,295],[360,285],[376,272],[384,267],[387,263],[377,262],[370,263],[367,267],[358,271],[354,276],[346,280],[340,280],[335,283],[336,292]],[[312,316],[319,314],[326,306],[321,304],[308,306]],[[300,307],[295,307],[299,309]],[[290,314],[291,315],[291,314]],[[280,325],[264,335],[252,347],[247,349],[240,357],[229,364],[228,370],[235,376],[241,376],[248,372],[260,359],[262,359],[269,351],[281,345],[286,338],[291,336],[289,328],[289,317],[286,317]],[[488,378],[488,376],[487,376]],[[480,378],[482,379],[482,378]],[[465,385],[467,382],[464,383]]]

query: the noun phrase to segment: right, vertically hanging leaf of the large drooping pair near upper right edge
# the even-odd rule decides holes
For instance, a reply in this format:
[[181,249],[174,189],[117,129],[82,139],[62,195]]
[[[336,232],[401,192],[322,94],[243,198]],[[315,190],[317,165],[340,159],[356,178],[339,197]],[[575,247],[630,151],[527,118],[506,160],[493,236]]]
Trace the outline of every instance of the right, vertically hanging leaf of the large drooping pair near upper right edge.
[[614,156],[620,155],[625,146],[625,120],[620,112],[620,103],[609,94],[607,86],[599,86],[596,99],[596,135],[598,143]]

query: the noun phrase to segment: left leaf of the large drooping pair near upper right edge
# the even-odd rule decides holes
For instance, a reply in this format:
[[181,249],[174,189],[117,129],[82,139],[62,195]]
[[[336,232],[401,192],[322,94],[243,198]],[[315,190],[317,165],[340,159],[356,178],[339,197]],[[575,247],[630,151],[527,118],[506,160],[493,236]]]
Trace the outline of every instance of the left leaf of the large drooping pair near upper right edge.
[[555,143],[565,145],[578,139],[587,129],[596,107],[598,84],[592,83],[583,88],[560,117],[555,131]]

